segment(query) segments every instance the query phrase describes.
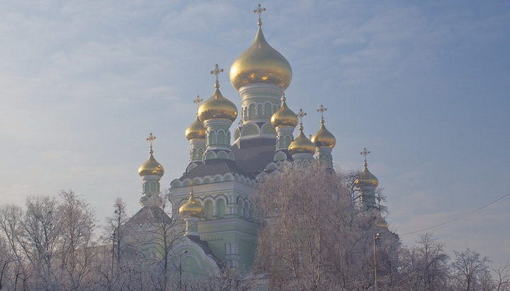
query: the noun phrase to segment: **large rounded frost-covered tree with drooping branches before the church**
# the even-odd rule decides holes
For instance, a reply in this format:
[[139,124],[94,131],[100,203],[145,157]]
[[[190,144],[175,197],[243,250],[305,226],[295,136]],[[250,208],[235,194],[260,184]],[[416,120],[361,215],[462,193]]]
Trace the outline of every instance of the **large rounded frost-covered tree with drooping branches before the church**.
[[354,207],[344,176],[330,169],[283,164],[263,178],[254,203],[262,225],[256,268],[268,274],[272,288],[373,286],[373,237],[378,232],[385,232],[377,242],[379,258],[395,261],[380,264],[381,279],[390,282],[392,269],[397,270],[398,239],[375,224],[378,210],[360,213]]

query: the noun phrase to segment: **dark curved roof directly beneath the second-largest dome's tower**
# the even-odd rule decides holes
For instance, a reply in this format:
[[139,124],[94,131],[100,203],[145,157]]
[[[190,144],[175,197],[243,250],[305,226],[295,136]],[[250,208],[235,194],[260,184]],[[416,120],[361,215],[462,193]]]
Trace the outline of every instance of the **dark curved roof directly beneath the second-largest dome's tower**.
[[247,178],[254,178],[251,173],[239,168],[234,161],[229,159],[212,159],[204,161],[203,164],[196,166],[188,173],[184,173],[179,179],[183,181],[186,178],[192,179],[195,177],[215,176],[216,174],[223,175],[225,173],[238,173]]

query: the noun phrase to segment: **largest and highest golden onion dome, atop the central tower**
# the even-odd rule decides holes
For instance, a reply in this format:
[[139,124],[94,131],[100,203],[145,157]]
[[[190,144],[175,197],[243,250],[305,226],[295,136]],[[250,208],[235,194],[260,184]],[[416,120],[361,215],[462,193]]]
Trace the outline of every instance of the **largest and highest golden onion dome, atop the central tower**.
[[254,41],[230,67],[230,82],[237,91],[249,84],[275,84],[287,89],[292,68],[277,50],[268,44],[259,25]]

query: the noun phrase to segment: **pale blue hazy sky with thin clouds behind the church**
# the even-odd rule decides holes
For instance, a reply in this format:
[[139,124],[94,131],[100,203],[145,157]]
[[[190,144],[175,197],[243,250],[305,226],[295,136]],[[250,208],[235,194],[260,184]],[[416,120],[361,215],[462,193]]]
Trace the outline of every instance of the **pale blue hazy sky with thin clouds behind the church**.
[[[188,161],[193,98],[208,98],[256,33],[257,2],[2,1],[2,203],[72,188],[103,222],[116,197],[139,208],[149,132],[166,170]],[[293,67],[288,105],[317,130],[322,103],[334,161],[370,171],[388,218],[434,229],[448,251],[510,255],[509,1],[268,1],[266,39]],[[220,76],[222,92],[240,98]],[[404,243],[417,235],[402,236]]]

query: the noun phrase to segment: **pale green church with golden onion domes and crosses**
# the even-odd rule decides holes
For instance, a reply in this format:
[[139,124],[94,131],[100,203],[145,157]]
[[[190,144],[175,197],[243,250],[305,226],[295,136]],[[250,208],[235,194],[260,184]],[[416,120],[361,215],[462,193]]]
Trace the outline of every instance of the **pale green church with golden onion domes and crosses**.
[[[230,83],[241,103],[236,105],[222,95],[224,69],[216,64],[210,72],[215,76],[212,95],[205,101],[197,96],[196,118],[186,128],[189,164],[182,165],[183,175],[169,185],[168,199],[174,209],[179,208],[179,219],[186,221],[184,237],[173,253],[191,273],[208,275],[223,267],[252,266],[259,225],[249,198],[258,186],[258,176],[278,169],[282,161],[303,165],[318,161],[333,169],[331,151],[336,139],[326,127],[327,109],[320,105],[318,130],[307,137],[302,122],[307,113],[300,109],[296,114],[290,109],[292,97],[285,96],[292,68],[263,35],[261,13],[265,10],[260,4],[254,10],[259,14],[255,38],[229,69]],[[231,128],[237,118],[239,124]],[[151,134],[149,142],[152,139]],[[152,143],[139,174],[142,210],[132,219],[165,215],[159,198],[164,169],[154,157]],[[368,171],[366,159],[355,183],[362,207],[374,207],[378,181]]]

